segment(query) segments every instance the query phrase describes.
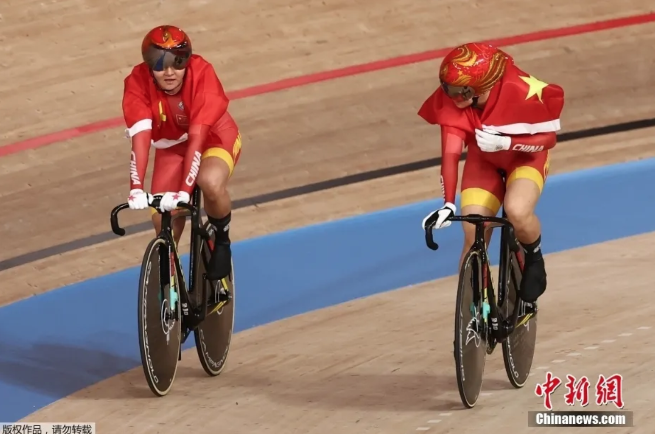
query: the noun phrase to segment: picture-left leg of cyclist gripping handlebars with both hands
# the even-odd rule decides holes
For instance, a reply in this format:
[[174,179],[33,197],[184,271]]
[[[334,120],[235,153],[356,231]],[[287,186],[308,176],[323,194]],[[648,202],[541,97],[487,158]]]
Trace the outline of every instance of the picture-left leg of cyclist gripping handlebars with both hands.
[[[153,167],[153,182],[150,189],[152,194],[164,194],[179,190],[184,156],[176,151],[172,148],[155,150],[155,167]],[[162,216],[154,208],[151,207],[150,210],[155,232],[159,233],[162,227]],[[176,213],[177,211],[173,210],[171,215],[175,216]],[[173,221],[173,238],[176,244],[179,243],[182,236],[185,221],[186,219],[181,217]]]

